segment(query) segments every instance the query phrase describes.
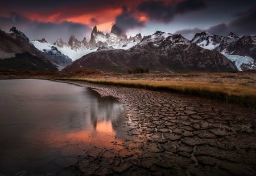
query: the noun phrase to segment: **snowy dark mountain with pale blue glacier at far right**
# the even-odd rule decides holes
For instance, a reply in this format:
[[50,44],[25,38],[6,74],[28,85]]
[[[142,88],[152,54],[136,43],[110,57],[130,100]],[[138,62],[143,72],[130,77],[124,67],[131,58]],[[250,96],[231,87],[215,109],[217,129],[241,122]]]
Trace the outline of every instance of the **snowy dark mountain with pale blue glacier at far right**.
[[196,33],[191,40],[201,48],[216,50],[233,61],[238,70],[256,70],[256,40],[254,36],[238,37],[234,33],[218,36],[210,32]]

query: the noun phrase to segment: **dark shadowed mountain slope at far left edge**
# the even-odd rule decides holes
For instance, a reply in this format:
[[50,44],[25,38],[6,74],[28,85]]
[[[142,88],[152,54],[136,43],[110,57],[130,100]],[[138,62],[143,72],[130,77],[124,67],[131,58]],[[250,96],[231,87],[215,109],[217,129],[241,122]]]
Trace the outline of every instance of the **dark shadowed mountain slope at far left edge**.
[[45,53],[31,45],[21,32],[0,30],[0,67],[28,70],[57,70]]

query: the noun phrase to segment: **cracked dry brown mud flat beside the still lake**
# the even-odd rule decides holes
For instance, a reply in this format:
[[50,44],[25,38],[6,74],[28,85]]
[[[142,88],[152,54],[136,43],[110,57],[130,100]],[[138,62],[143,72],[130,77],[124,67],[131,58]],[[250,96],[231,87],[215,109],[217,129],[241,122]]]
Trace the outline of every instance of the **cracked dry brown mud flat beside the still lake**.
[[117,97],[127,112],[123,142],[86,151],[75,164],[82,175],[256,175],[255,110],[168,92],[73,83]]

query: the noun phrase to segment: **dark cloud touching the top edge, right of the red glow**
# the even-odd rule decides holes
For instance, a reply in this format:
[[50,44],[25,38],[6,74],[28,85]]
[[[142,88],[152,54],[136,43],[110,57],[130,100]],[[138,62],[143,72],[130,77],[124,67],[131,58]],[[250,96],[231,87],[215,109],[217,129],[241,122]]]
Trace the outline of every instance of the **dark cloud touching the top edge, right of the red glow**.
[[137,7],[138,11],[145,13],[151,20],[168,23],[176,14],[200,10],[205,7],[202,0],[185,0],[177,3],[164,1],[144,1]]

